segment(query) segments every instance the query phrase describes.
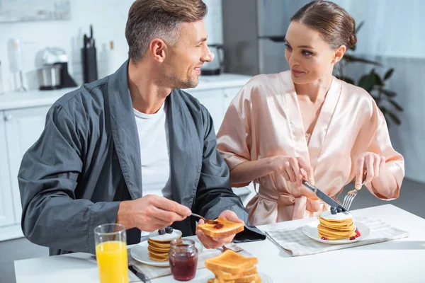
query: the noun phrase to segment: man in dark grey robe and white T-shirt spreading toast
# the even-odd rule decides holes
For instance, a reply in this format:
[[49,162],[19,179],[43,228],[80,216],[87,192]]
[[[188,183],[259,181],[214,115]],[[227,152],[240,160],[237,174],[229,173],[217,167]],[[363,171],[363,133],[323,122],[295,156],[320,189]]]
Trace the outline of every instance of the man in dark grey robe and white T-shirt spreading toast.
[[[208,111],[179,88],[198,85],[206,45],[201,0],[137,0],[125,30],[129,60],[115,74],[67,93],[47,113],[18,174],[22,229],[50,254],[94,253],[94,227],[123,224],[128,243],[196,219],[247,221],[229,187]],[[202,223],[202,221],[200,221]],[[215,239],[196,231],[205,247]],[[246,225],[235,240],[264,239]]]

